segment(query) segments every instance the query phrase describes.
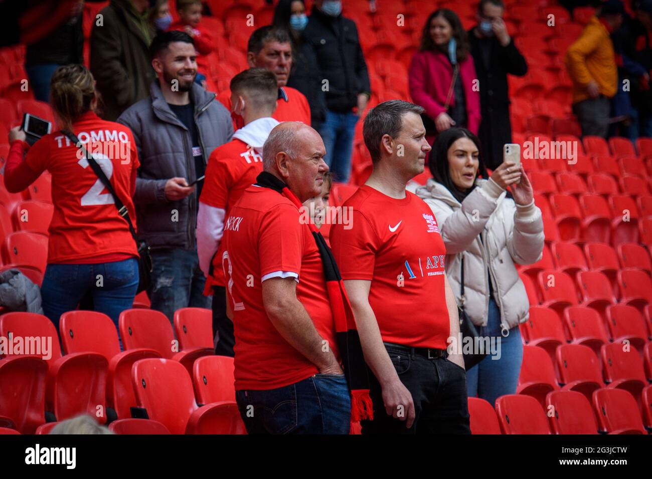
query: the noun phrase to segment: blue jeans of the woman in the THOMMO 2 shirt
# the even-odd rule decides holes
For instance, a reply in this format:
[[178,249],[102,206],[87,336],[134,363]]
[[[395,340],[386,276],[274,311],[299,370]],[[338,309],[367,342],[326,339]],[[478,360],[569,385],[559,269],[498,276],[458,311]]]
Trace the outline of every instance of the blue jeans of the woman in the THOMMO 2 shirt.
[[95,311],[118,325],[120,313],[134,304],[140,276],[136,258],[95,265],[48,265],[41,286],[43,312],[59,330],[59,318],[77,308],[90,290]]

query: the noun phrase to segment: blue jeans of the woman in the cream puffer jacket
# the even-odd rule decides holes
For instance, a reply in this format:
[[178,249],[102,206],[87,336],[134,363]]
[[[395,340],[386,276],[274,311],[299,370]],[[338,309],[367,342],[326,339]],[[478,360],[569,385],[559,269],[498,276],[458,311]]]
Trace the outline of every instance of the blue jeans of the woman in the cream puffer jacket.
[[493,406],[496,398],[515,394],[518,375],[523,362],[523,343],[518,327],[511,328],[507,337],[501,335],[500,310],[493,298],[489,300],[487,325],[479,328],[480,336],[496,336],[500,339],[500,359],[484,358],[466,371],[468,396],[486,399]]

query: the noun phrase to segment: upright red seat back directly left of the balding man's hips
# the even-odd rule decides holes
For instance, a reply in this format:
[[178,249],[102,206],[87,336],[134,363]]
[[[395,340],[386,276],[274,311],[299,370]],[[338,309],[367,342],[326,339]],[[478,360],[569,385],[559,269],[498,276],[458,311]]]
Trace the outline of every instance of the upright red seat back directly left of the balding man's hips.
[[192,370],[196,398],[201,404],[235,401],[233,358],[205,356],[195,361]]

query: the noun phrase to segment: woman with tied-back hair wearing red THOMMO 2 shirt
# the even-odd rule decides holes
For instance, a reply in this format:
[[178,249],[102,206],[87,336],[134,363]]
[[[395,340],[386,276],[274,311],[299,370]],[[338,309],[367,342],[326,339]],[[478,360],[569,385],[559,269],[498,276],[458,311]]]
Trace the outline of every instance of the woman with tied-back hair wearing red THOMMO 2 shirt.
[[30,147],[20,127],[10,131],[5,187],[18,193],[44,171],[52,175],[54,214],[41,287],[46,316],[58,329],[61,314],[75,310],[88,293],[95,310],[117,325],[138,288],[138,250],[85,154],[100,165],[135,225],[131,198],[139,166],[136,143],[129,128],[98,117],[95,80],[83,65],[55,70],[50,104],[58,123],[52,133]]

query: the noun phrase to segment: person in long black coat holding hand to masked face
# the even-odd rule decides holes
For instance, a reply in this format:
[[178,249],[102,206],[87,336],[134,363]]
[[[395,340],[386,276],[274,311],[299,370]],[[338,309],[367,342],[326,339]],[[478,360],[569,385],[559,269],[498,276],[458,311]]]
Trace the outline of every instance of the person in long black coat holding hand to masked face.
[[507,74],[524,76],[526,59],[514,45],[503,22],[503,0],[482,0],[478,5],[478,24],[469,30],[471,54],[480,81],[482,121],[478,136],[486,166],[496,168],[503,161],[503,145],[512,142],[509,121]]

